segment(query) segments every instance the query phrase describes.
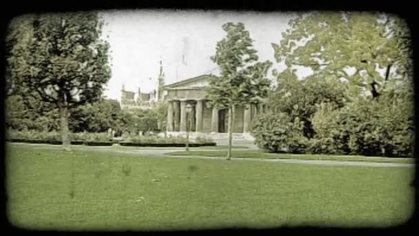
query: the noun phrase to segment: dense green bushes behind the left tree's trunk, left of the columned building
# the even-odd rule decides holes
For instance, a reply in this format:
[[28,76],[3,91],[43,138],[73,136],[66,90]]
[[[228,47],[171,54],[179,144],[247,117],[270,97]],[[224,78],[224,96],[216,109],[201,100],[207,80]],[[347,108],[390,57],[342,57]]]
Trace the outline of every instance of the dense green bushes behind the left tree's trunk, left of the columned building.
[[[121,109],[119,102],[101,99],[69,110],[71,132],[107,132],[110,128],[116,136],[123,132],[156,132],[165,130],[167,104],[157,104],[151,109]],[[6,99],[6,126],[14,130],[38,132],[58,131],[59,112],[53,106],[32,97],[12,95]]]

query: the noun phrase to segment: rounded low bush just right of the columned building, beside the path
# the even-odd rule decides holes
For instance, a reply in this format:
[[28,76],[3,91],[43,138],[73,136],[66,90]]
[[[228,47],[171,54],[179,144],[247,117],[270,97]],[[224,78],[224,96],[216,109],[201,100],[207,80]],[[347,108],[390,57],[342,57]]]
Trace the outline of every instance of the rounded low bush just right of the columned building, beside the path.
[[284,112],[259,115],[253,122],[256,144],[268,152],[305,153],[308,139],[302,134],[303,122]]

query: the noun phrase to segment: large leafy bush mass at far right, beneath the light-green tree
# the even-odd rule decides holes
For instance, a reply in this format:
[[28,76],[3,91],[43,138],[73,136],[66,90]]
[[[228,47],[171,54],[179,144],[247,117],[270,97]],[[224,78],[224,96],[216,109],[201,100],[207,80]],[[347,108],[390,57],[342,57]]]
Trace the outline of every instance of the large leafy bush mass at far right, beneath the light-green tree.
[[326,104],[312,117],[311,153],[413,156],[413,103],[409,89],[358,99],[345,108]]

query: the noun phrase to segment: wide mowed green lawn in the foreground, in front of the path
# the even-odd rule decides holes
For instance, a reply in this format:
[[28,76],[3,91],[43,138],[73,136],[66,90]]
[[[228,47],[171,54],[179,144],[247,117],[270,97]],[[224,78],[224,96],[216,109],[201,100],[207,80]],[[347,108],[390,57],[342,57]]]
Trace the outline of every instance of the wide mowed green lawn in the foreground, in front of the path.
[[413,168],[141,157],[8,146],[8,217],[54,230],[394,226]]

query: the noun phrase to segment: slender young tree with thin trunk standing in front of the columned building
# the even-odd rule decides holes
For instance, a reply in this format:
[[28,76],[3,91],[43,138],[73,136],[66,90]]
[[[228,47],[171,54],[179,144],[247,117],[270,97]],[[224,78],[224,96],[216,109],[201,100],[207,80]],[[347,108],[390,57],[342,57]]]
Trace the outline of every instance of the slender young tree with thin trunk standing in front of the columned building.
[[218,41],[216,55],[211,57],[220,66],[221,77],[210,80],[207,94],[212,106],[228,109],[227,159],[230,159],[234,107],[258,104],[267,97],[270,80],[266,75],[272,63],[258,62],[257,51],[243,23],[225,23],[223,30],[227,35]]

